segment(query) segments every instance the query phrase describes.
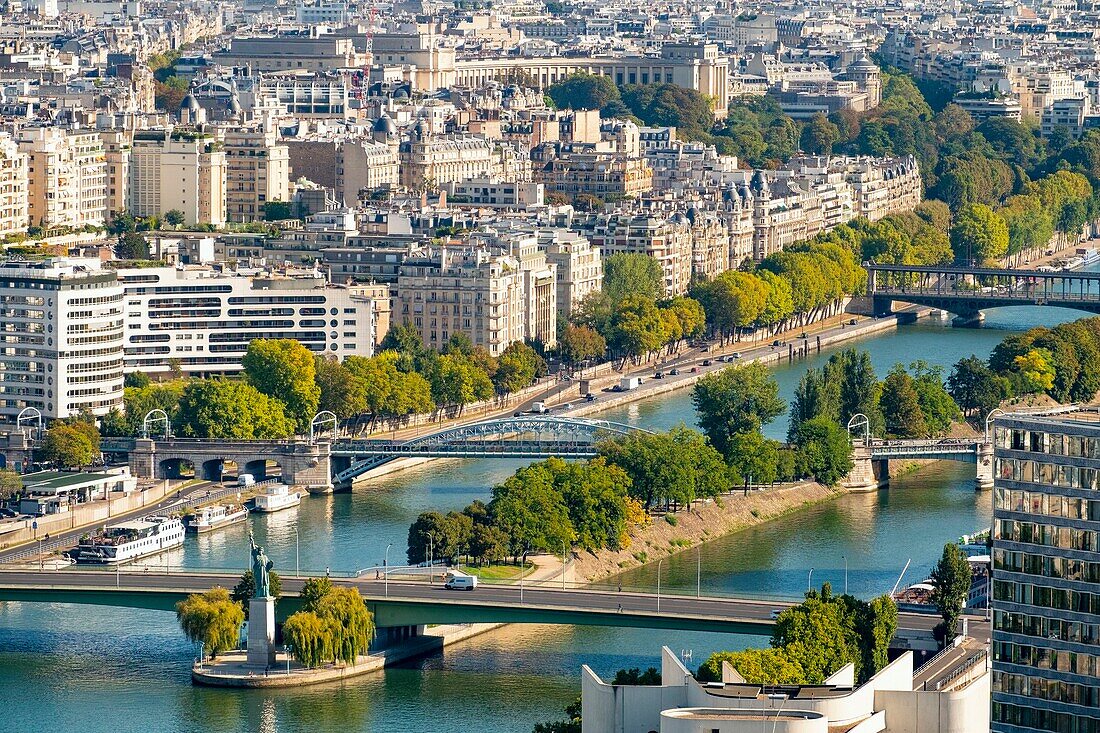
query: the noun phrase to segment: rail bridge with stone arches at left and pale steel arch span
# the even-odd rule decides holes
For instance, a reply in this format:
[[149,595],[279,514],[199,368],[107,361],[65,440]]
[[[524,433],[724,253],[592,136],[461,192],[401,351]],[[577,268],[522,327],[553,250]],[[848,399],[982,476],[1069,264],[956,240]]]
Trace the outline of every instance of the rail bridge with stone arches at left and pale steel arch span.
[[143,478],[176,478],[189,463],[196,475],[220,480],[226,462],[262,478],[268,463],[288,483],[348,488],[356,478],[398,458],[592,458],[605,436],[642,431],[608,420],[526,415],[479,420],[407,440],[331,439],[221,440],[103,438],[105,453],[130,462]]

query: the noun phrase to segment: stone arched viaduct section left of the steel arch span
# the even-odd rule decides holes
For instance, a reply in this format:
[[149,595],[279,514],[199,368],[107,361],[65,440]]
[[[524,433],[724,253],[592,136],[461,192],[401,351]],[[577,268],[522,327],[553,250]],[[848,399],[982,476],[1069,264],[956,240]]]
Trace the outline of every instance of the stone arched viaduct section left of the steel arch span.
[[267,477],[268,461],[278,466],[279,479],[287,484],[314,491],[331,491],[332,467],[327,440],[189,440],[139,438],[130,450],[130,470],[146,479],[178,478],[180,467],[189,463],[196,478],[220,481],[226,461],[241,473],[257,479]]

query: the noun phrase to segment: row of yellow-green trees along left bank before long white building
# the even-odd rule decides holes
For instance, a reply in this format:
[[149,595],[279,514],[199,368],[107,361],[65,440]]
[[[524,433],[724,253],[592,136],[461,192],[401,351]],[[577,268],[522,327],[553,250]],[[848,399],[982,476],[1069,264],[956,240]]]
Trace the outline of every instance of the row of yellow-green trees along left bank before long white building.
[[[243,380],[177,378],[153,383],[127,378],[125,411],[105,416],[106,435],[136,435],[151,409],[163,409],[177,435],[198,438],[282,438],[308,431],[320,409],[341,418],[370,414],[398,419],[437,408],[461,409],[530,385],[546,373],[542,358],[513,343],[493,358],[455,336],[442,354],[422,346],[411,327],[396,327],[370,359],[336,362],[293,339],[256,339],[242,359]],[[98,445],[98,439],[97,439]]]

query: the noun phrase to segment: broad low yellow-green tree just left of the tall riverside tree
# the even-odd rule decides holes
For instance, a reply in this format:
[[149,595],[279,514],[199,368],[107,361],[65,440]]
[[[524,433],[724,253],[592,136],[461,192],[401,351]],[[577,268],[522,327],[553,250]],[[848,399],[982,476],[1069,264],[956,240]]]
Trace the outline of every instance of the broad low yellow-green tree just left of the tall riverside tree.
[[173,423],[176,435],[188,438],[252,440],[294,435],[283,403],[251,384],[226,379],[188,382]]

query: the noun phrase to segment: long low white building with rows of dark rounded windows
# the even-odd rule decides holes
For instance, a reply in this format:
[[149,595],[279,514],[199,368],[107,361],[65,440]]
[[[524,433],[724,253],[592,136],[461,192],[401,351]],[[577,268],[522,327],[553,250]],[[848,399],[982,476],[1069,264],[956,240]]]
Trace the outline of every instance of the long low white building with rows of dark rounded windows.
[[374,353],[372,299],[320,272],[145,267],[118,278],[128,372],[164,373],[170,360],[185,374],[238,372],[253,339],[295,339],[340,360]]

